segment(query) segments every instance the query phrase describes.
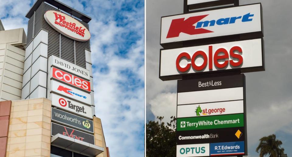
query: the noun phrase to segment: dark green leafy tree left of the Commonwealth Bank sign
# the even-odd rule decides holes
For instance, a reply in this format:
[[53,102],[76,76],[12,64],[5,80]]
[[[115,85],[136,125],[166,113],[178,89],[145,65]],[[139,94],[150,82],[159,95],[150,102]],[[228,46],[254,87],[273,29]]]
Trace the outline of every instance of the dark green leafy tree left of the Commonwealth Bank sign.
[[164,117],[146,124],[146,157],[176,156],[176,117],[165,125]]

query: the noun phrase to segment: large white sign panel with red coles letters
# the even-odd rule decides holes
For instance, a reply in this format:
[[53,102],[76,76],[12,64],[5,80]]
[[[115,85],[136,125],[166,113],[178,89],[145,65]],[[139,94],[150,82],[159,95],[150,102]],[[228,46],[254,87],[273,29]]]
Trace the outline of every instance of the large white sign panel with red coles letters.
[[160,50],[159,78],[177,80],[182,76],[240,70],[263,71],[262,39]]

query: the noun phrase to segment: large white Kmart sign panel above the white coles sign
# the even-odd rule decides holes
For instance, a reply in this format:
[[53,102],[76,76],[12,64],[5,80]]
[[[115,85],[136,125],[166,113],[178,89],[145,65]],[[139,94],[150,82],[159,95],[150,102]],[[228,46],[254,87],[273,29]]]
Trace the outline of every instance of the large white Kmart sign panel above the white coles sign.
[[261,4],[161,18],[160,43],[262,32]]

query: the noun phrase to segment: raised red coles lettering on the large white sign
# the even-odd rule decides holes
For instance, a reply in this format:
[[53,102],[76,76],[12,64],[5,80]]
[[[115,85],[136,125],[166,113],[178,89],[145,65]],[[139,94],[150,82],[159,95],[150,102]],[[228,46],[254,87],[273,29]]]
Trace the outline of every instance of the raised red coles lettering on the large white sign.
[[[235,53],[236,51],[238,51],[239,54]],[[204,51],[201,51],[201,50],[196,51],[195,53],[193,53],[192,56],[189,55],[189,53],[182,52],[176,58],[176,69],[180,72],[186,72],[192,67],[196,71],[201,71],[207,67],[207,63],[209,62],[208,68],[209,68],[209,70],[212,70],[213,69],[213,61],[214,61],[215,68],[221,69],[221,68],[227,67],[228,64],[230,64],[231,67],[239,67],[243,63],[243,57],[241,54],[242,54],[242,48],[239,46],[231,47],[231,49],[229,50],[229,54],[228,54],[227,49],[219,48],[215,51],[214,56],[213,56],[213,46],[209,46],[208,56]],[[195,61],[198,57],[203,58],[203,64],[197,65],[195,63]],[[230,58],[230,60],[229,60],[229,58]],[[181,62],[181,60],[188,61],[187,65],[185,67],[180,66],[179,63]],[[220,62],[222,60],[224,60],[223,63]],[[235,60],[237,60],[237,61],[235,61]],[[190,63],[189,63],[189,61],[190,61]]]

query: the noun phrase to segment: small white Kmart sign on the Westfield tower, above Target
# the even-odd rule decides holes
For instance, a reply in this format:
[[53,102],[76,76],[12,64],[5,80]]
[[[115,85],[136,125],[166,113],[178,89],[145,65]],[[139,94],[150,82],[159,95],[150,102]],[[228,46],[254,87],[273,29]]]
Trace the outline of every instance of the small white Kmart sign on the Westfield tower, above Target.
[[72,100],[91,105],[91,95],[71,86],[59,83],[55,80],[50,81],[50,92],[69,97]]

